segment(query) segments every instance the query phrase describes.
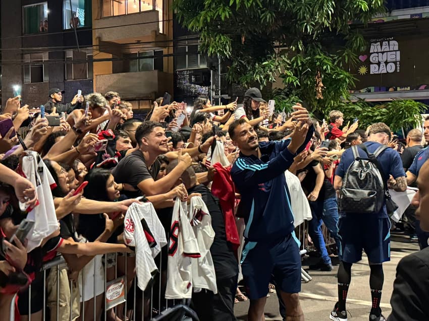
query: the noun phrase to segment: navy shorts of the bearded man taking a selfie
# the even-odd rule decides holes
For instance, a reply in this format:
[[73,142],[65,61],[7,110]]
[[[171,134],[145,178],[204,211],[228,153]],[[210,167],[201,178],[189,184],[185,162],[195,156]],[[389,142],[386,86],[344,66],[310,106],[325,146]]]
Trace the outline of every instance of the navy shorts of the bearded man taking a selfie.
[[272,275],[283,292],[298,293],[301,291],[301,256],[297,241],[292,234],[272,243],[246,241],[241,271],[251,300],[266,297]]

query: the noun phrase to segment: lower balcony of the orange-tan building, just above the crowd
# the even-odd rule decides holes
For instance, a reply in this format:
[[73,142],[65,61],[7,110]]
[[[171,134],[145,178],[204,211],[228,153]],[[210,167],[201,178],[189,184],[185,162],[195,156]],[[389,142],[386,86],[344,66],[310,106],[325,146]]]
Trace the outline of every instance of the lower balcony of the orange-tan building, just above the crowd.
[[150,99],[173,92],[173,74],[157,70],[95,76],[95,91],[116,91],[124,100]]

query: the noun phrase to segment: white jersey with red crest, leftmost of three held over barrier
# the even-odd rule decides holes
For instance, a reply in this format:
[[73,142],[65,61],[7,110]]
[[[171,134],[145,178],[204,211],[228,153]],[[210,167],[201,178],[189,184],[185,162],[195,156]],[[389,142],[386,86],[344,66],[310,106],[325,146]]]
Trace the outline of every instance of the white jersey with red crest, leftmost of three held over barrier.
[[133,203],[128,208],[124,221],[124,241],[128,246],[135,246],[137,285],[144,291],[158,272],[153,258],[167,244],[164,228],[152,203]]

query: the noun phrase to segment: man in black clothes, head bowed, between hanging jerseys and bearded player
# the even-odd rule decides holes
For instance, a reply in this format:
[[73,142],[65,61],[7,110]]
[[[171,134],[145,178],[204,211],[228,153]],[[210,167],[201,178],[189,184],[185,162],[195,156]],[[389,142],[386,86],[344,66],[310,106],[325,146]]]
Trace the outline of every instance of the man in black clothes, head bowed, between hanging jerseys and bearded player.
[[[173,161],[167,168],[172,171],[177,166]],[[218,293],[202,290],[192,294],[194,309],[200,320],[204,321],[235,321],[234,297],[237,289],[238,262],[232,244],[227,242],[224,214],[219,199],[211,194],[210,189],[199,184],[192,167],[186,169],[176,184],[184,183],[189,196],[200,194],[211,216],[211,226],[215,231],[215,239],[210,247],[211,258],[215,266]]]

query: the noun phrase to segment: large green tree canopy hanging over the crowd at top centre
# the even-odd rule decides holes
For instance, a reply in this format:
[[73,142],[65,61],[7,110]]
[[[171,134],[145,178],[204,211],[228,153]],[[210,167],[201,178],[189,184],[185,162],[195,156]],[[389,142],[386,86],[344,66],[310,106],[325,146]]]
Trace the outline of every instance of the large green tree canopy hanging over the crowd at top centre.
[[350,22],[365,24],[385,8],[383,0],[174,0],[174,10],[200,34],[201,52],[230,62],[230,82],[264,87],[280,74],[285,97],[323,112],[349,96],[355,79],[345,67],[367,45]]

